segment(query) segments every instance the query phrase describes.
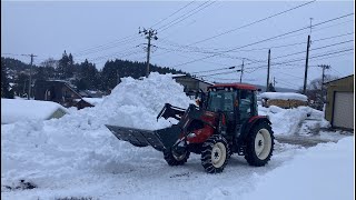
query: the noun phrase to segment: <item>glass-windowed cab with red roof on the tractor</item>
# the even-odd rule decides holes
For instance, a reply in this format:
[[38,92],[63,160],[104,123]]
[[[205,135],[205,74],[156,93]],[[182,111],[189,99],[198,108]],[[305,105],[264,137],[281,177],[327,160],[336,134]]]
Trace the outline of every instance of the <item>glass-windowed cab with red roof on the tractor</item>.
[[208,88],[205,109],[222,112],[227,118],[227,132],[235,132],[236,127],[258,114],[256,91],[257,88],[249,84],[215,84]]

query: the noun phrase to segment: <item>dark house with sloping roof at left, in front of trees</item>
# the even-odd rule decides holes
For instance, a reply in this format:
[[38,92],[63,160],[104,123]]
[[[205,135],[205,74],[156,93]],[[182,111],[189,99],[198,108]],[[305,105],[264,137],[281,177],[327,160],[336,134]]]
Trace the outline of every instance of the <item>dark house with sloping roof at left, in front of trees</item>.
[[75,99],[81,99],[73,86],[63,80],[38,80],[33,90],[34,100],[55,101],[67,108],[76,104]]

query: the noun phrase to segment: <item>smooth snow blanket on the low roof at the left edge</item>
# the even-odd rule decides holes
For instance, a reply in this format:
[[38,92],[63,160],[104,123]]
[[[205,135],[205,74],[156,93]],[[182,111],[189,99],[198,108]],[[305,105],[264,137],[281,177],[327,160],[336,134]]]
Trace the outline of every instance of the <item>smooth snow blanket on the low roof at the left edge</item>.
[[47,120],[53,112],[67,109],[52,101],[1,99],[1,123],[26,120]]

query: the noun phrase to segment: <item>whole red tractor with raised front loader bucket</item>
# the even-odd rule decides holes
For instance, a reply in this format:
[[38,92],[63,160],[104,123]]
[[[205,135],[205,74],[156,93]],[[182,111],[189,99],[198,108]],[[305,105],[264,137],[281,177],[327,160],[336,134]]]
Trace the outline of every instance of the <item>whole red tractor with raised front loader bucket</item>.
[[245,156],[250,166],[265,166],[273,154],[274,134],[267,117],[258,116],[257,88],[249,84],[215,84],[199,107],[187,110],[168,103],[157,119],[179,120],[155,131],[107,126],[120,140],[162,151],[169,166],[187,162],[190,152],[201,154],[208,173],[221,172],[233,153]]

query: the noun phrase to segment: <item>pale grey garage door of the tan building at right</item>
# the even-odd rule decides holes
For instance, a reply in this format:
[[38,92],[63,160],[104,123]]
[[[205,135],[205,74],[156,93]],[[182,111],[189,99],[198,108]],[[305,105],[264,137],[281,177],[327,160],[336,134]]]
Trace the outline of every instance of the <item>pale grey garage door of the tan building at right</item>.
[[335,92],[333,127],[354,129],[353,92]]

